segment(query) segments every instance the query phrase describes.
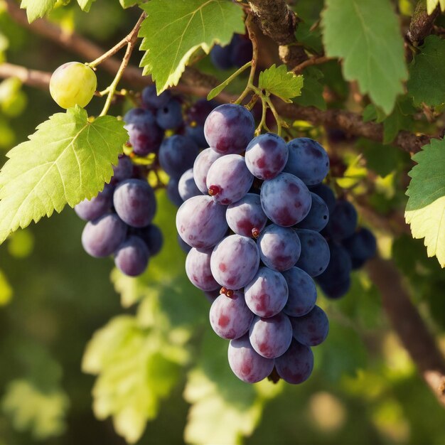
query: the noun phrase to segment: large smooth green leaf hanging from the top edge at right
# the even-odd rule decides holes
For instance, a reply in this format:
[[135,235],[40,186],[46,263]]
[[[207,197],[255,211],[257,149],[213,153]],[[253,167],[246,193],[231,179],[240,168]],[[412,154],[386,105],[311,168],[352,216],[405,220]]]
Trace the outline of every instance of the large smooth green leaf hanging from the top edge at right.
[[343,58],[346,80],[389,114],[407,79],[400,26],[389,0],[326,0],[326,55]]

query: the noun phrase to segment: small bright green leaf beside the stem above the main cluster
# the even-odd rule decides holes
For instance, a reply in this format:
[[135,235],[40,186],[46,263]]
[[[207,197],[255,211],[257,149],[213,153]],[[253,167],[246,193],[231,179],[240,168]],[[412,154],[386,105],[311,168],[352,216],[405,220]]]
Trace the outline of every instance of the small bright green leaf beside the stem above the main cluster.
[[277,68],[274,64],[259,73],[258,87],[285,102],[291,102],[292,97],[301,95],[303,76],[288,72],[286,65],[279,65]]

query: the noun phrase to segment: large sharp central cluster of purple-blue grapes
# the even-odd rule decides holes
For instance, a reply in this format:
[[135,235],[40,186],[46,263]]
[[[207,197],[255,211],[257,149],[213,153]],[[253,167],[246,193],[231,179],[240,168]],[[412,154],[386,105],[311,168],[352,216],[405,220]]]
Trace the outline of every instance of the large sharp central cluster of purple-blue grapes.
[[230,340],[237,377],[304,382],[313,368],[311,347],[328,335],[313,281],[330,259],[319,233],[328,205],[309,190],[328,173],[328,155],[312,139],[254,137],[252,114],[236,104],[210,112],[204,132],[210,148],[188,176],[199,193],[176,215],[190,247],[188,278],[214,299],[210,324]]

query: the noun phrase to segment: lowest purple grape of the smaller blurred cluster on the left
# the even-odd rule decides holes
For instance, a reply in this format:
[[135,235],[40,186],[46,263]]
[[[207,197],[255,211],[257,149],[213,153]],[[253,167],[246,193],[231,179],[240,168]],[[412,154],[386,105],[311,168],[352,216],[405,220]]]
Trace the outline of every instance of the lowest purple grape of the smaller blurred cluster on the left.
[[114,252],[114,264],[117,269],[129,277],[137,277],[149,264],[150,252],[141,238],[129,237]]

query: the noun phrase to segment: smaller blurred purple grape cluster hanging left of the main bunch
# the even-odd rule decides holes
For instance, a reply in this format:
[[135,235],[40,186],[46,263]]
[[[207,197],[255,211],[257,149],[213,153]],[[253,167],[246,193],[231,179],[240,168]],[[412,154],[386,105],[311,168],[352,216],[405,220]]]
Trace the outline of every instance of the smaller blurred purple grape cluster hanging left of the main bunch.
[[140,275],[162,247],[161,230],[151,221],[156,198],[132,161],[121,156],[110,183],[95,198],[74,208],[87,221],[82,246],[92,257],[114,255],[114,264],[131,277]]

